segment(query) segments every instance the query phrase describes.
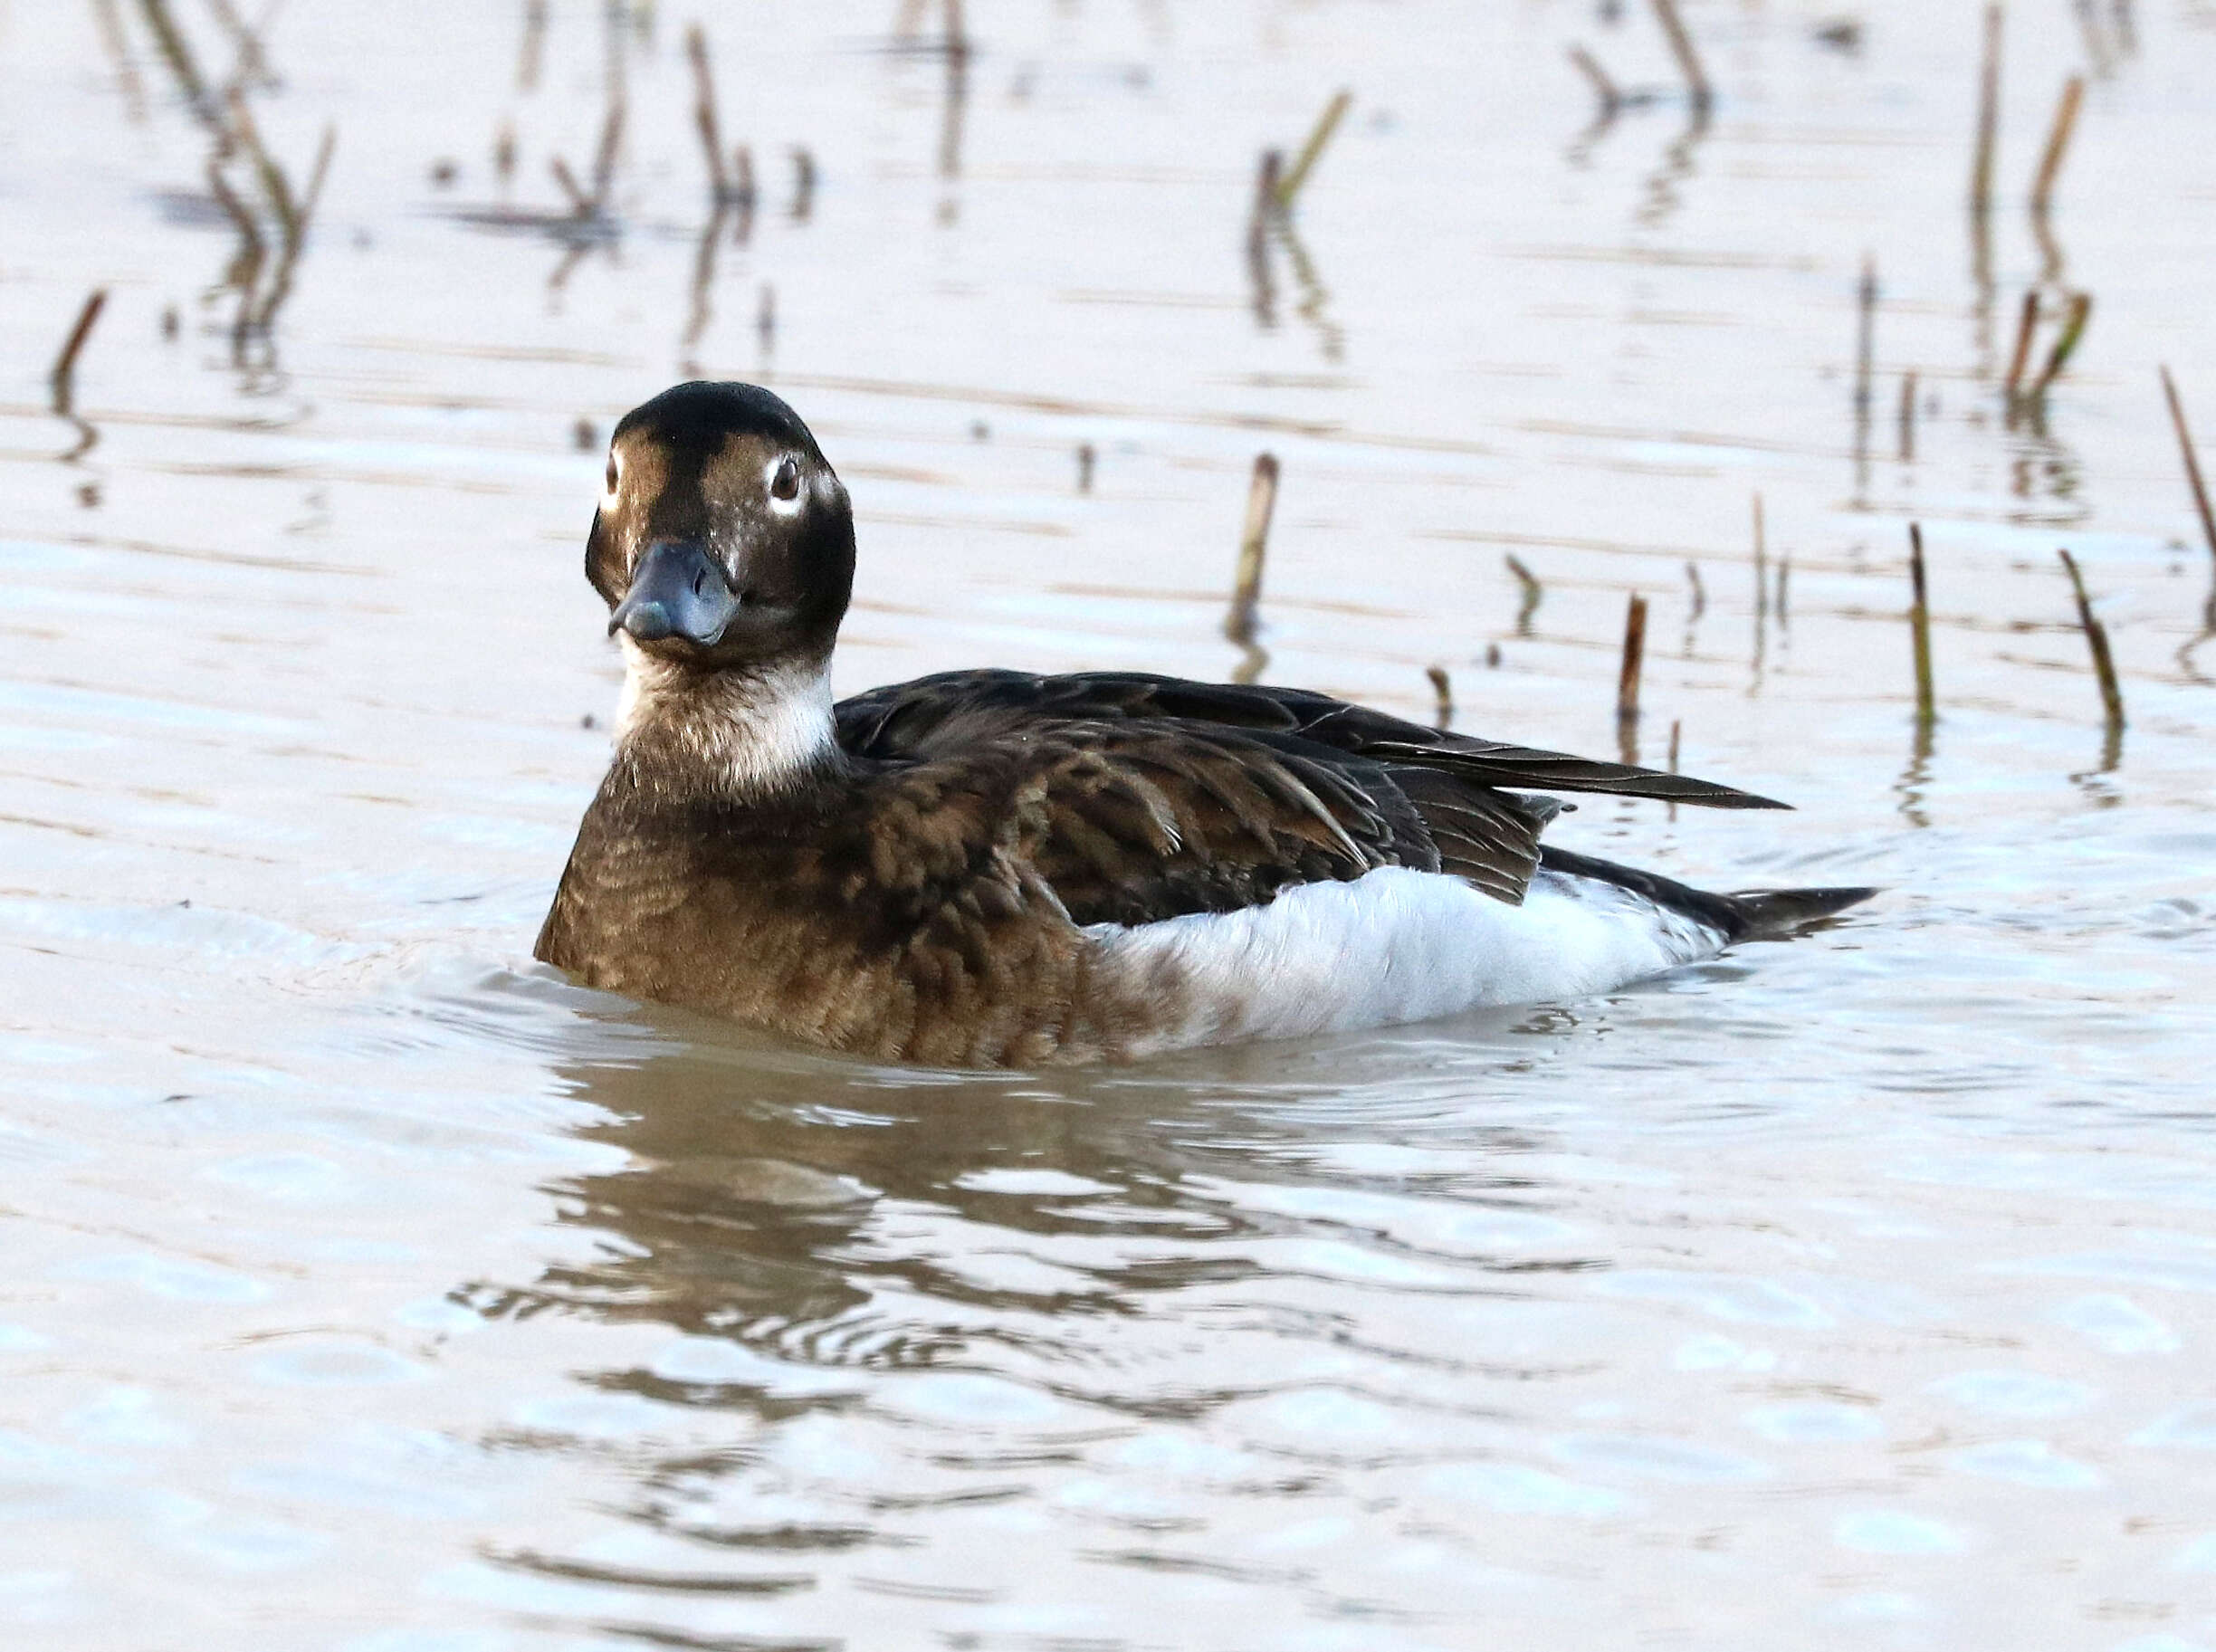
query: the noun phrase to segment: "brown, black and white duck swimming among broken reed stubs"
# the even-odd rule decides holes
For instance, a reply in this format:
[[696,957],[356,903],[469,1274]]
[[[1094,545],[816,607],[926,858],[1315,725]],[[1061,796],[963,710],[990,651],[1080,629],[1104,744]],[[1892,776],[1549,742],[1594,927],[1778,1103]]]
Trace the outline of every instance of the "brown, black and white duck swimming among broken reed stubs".
[[773,392],[680,383],[585,538],[625,682],[534,957],[915,1067],[1139,1061],[1613,992],[1868,888],[1542,844],[1560,793],[1784,808],[1307,689],[944,671],[831,695],[853,505]]

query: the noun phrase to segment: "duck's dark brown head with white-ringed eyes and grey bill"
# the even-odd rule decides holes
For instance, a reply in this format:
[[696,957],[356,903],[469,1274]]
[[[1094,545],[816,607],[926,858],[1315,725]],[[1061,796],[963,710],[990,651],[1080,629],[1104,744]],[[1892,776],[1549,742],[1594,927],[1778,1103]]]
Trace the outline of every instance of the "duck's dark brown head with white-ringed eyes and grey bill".
[[676,385],[609,438],[585,578],[634,662],[820,673],[853,591],[853,507],[778,396]]

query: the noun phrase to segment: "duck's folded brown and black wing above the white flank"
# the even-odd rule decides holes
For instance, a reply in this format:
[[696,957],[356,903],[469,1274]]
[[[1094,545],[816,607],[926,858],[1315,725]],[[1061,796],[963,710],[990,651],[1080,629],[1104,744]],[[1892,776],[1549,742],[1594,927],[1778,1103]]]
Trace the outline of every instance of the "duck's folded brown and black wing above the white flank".
[[1451,873],[1518,904],[1560,808],[1520,788],[1782,808],[1321,693],[1139,673],[953,671],[855,695],[835,717],[840,744],[889,771],[1015,784],[1022,855],[1077,923],[1228,912],[1378,866]]

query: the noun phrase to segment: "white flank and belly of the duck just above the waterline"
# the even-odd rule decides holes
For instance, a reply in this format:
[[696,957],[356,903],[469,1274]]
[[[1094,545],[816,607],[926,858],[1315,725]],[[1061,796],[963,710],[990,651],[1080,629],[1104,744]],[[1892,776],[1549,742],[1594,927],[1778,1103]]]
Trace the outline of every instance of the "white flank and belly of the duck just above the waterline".
[[1110,979],[1174,1005],[1152,1050],[1578,999],[1724,946],[1720,930],[1591,877],[1538,873],[1525,904],[1507,906],[1405,866],[1303,884],[1243,912],[1086,935]]

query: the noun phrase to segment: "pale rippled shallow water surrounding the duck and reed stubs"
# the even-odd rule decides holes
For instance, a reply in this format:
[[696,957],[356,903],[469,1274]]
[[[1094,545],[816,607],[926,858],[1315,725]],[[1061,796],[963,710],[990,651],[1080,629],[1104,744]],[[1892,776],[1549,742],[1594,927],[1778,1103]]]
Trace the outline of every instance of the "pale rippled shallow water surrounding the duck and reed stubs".
[[[337,148],[239,337],[148,11],[0,9],[9,1645],[2216,1648],[2216,647],[2156,385],[2216,434],[2216,11],[2014,9],[1983,283],[1970,7],[1848,51],[1693,0],[1706,126],[1589,124],[1571,44],[1671,84],[1638,7],[973,4],[960,104],[935,7],[718,7],[762,193],[707,244],[689,18],[523,11],[277,16],[268,151]],[[523,217],[612,84],[612,210]],[[1259,290],[1254,157],[1341,84]],[[2043,272],[2092,323],[2008,425]],[[1440,664],[1458,726],[1609,751],[1642,591],[1640,753],[1802,813],[1558,837],[1888,892],[1092,1074],[581,992],[527,948],[607,755],[598,438],[691,372],[853,489],[847,691],[1230,673],[1268,445],[1265,680],[1432,715]]]

